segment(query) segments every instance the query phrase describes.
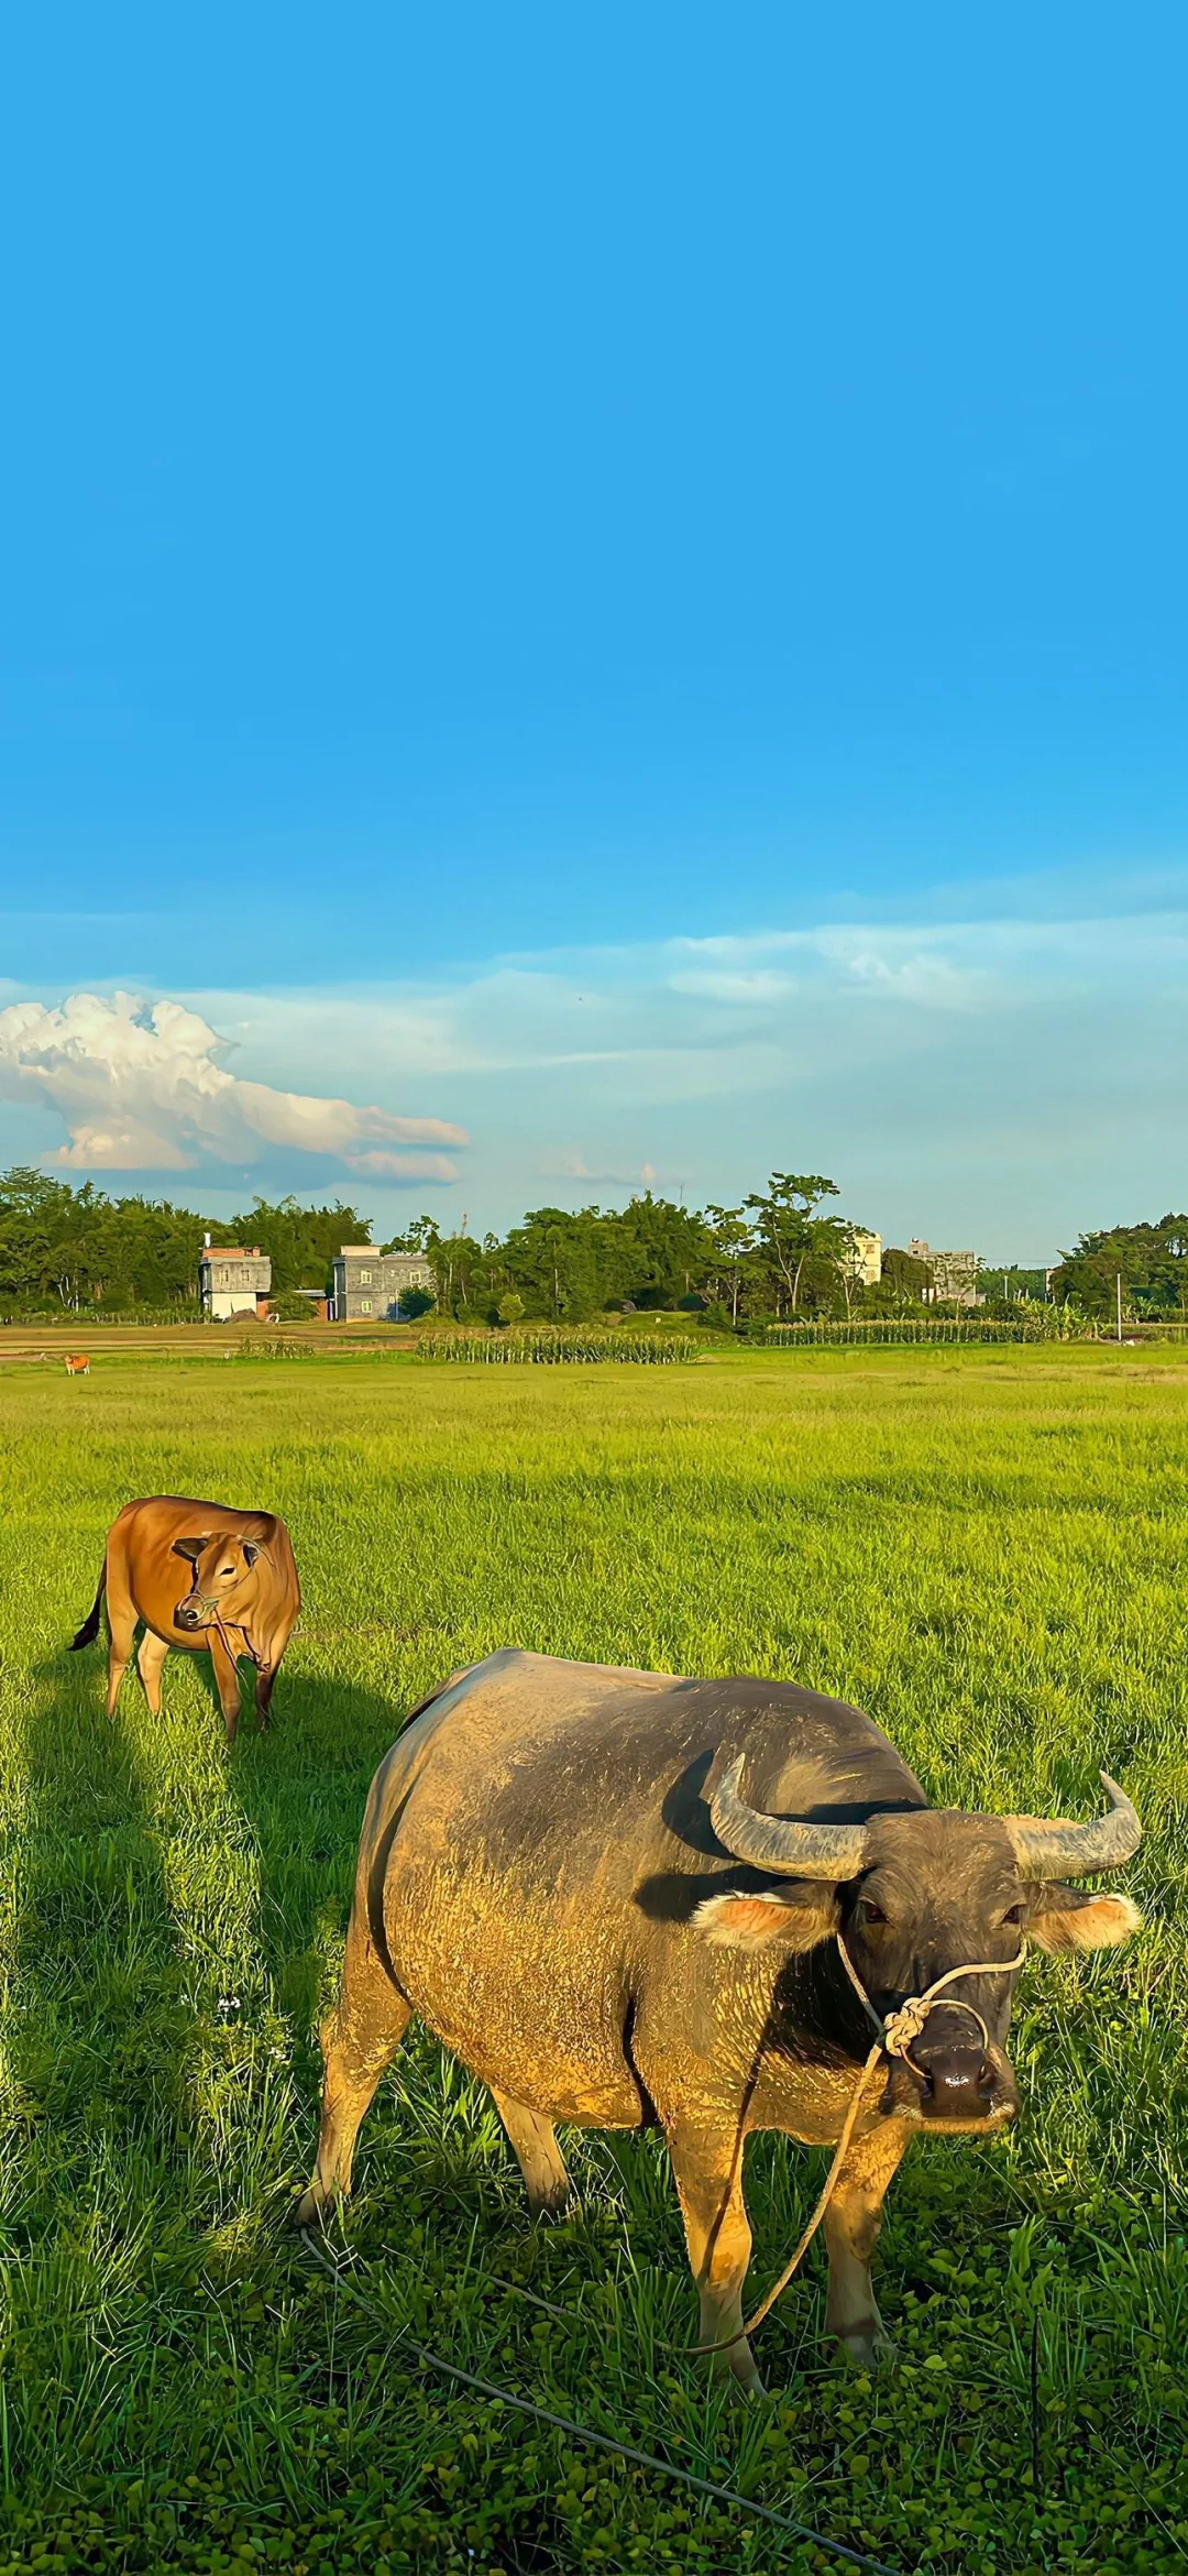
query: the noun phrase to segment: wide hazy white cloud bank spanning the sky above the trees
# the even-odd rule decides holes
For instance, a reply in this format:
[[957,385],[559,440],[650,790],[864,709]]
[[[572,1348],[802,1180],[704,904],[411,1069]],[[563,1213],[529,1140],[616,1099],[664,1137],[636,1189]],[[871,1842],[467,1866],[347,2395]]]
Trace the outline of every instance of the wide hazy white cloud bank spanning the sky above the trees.
[[[219,1164],[299,1185],[294,1157],[322,1154],[369,1208],[392,1200],[392,1231],[410,1185],[446,1218],[461,1128],[353,1092],[477,1131],[482,1224],[546,1195],[621,1200],[652,1170],[732,1203],[804,1167],[889,1242],[1039,1260],[1082,1224],[1180,1206],[1185,987],[1183,904],[639,940],[152,1010],[8,987],[0,1100],[54,1110],[75,1170],[201,1164],[204,1206]],[[34,1118],[3,1115],[0,1162],[31,1159]]]

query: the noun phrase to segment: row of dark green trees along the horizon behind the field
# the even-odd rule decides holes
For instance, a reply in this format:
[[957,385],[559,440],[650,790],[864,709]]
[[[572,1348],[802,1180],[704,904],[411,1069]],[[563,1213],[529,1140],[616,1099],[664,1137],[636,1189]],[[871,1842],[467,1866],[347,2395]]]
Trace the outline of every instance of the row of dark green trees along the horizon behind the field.
[[[531,1208],[505,1236],[482,1239],[417,1216],[381,1249],[420,1252],[433,1303],[464,1321],[683,1306],[742,1327],[935,1311],[930,1270],[905,1249],[889,1247],[881,1280],[863,1283],[863,1229],[835,1208],[838,1195],[825,1172],[773,1172],[737,1208],[685,1208],[647,1190],[626,1208]],[[271,1255],[281,1314],[309,1311],[296,1291],[327,1291],[340,1244],[374,1242],[371,1218],[340,1198],[320,1208],[255,1198],[240,1216],[214,1218],[15,1167],[0,1175],[0,1314],[198,1314],[204,1234]],[[1106,1316],[1118,1273],[1129,1316],[1188,1319],[1188,1216],[1082,1234],[1049,1293]],[[979,1291],[990,1311],[1010,1311],[1044,1293],[1044,1273],[982,1265]]]

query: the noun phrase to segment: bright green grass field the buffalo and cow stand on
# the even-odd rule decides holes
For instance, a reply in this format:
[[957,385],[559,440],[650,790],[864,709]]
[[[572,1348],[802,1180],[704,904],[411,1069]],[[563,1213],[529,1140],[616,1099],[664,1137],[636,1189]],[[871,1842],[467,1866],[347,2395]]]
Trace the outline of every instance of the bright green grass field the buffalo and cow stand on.
[[[662,1370],[0,1373],[0,2576],[5,2568],[809,2571],[727,2486],[881,2566],[1188,2558],[1188,1365],[819,1350]],[[201,1656],[165,1716],[67,1656],[134,1494],[286,1515],[273,1728],[227,1752]],[[1031,1958],[1015,2136],[912,2146],[879,2300],[825,2339],[819,2249],[737,2403],[696,2334],[655,2136],[570,2133],[528,2223],[490,2097],[412,2035],[314,2259],[289,2210],[371,1770],[503,1643],[773,1672],[866,1705],[941,1803],[1144,1844],[1126,1950]],[[750,2287],[825,2174],[750,2148]]]

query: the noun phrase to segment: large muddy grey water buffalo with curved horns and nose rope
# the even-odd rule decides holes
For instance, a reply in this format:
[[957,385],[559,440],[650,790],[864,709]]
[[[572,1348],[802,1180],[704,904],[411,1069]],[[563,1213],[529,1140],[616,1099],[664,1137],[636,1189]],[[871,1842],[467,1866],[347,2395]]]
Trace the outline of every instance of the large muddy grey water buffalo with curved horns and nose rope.
[[[838,2141],[871,2048],[845,1958],[884,2017],[984,1963],[879,2063],[825,2221],[827,2324],[879,2357],[868,2259],[907,2141],[1018,2112],[1023,1940],[1093,1950],[1139,1924],[1126,1896],[1057,1880],[1136,1850],[1108,1793],[1095,1824],[938,1811],[871,1718],[814,1690],[487,1656],[371,1783],[299,2223],[350,2190],[358,2123],[420,2012],[490,2084],[533,2210],[570,2192],[554,2120],[665,2128],[701,2336],[722,2344],[750,2259],[745,2138]],[[724,2362],[760,2385],[745,2339]]]

